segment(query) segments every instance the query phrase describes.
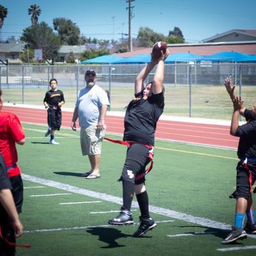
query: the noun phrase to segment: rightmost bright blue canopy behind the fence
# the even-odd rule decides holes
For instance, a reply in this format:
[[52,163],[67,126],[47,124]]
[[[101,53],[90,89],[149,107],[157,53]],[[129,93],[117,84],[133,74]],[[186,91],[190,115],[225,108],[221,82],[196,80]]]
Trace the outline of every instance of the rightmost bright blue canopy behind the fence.
[[208,56],[204,56],[205,61],[228,61],[228,62],[241,62],[241,61],[256,61],[255,58],[248,54],[241,52],[218,52]]

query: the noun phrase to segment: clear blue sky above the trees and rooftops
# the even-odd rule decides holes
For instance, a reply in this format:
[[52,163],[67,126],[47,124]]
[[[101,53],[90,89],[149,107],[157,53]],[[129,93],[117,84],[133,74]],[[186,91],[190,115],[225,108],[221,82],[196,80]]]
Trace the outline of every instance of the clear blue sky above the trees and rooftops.
[[[8,8],[1,39],[19,38],[22,29],[31,25],[31,4],[42,10],[38,22],[51,27],[52,19],[64,17],[75,22],[86,37],[117,40],[128,33],[126,0],[0,0],[0,4]],[[164,35],[179,27],[191,43],[230,29],[256,29],[255,0],[135,0],[131,5],[134,38],[146,26]]]

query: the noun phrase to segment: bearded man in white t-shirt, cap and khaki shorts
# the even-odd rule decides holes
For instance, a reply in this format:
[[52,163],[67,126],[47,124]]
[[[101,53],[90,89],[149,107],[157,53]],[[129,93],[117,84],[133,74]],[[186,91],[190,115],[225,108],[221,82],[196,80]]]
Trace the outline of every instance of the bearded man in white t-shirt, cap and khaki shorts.
[[84,79],[86,87],[78,93],[71,128],[76,131],[76,120],[79,118],[82,154],[88,155],[91,164],[91,170],[84,176],[86,179],[97,179],[100,177],[100,153],[109,100],[107,93],[96,84],[94,70],[87,70]]

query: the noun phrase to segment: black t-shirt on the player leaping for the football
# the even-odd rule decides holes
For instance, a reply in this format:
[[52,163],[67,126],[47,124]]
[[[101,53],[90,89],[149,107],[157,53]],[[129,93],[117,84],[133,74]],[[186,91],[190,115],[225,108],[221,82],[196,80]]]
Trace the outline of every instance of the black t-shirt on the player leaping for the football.
[[156,124],[163,113],[163,92],[152,94],[147,100],[143,99],[143,92],[137,93],[139,100],[131,100],[124,118],[124,140],[154,145]]

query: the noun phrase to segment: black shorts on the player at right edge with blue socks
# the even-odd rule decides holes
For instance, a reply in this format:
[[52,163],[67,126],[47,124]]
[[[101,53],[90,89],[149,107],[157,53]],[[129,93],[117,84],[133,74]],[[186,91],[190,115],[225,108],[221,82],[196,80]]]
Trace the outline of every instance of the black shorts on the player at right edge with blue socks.
[[250,189],[252,189],[249,182],[250,174],[252,177],[252,186],[256,179],[256,163],[248,161],[246,166],[244,161],[239,161],[237,164],[236,191],[233,194],[235,198],[243,197],[247,200],[250,198]]

